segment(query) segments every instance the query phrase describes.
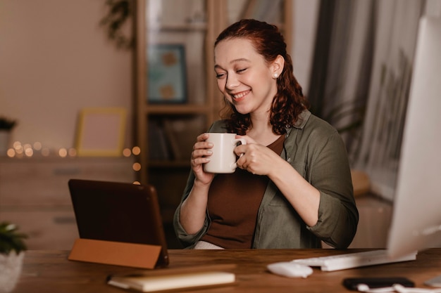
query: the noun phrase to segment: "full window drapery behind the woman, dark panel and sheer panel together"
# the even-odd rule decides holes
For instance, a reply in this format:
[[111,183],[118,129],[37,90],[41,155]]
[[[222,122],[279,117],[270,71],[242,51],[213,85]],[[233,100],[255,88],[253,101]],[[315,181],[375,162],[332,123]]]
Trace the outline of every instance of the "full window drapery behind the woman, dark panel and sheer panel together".
[[392,199],[424,0],[321,1],[311,111],[337,128],[353,169]]

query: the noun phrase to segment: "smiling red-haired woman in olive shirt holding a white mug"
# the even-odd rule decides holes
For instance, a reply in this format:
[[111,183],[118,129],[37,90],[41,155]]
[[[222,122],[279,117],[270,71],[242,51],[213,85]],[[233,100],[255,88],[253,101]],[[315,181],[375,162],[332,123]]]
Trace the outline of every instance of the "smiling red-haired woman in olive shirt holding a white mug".
[[240,20],[214,45],[225,119],[209,132],[247,140],[233,174],[206,173],[209,133],[194,144],[192,172],[175,212],[185,247],[317,248],[323,240],[347,247],[356,232],[347,153],[339,134],[311,115],[294,78],[278,28]]

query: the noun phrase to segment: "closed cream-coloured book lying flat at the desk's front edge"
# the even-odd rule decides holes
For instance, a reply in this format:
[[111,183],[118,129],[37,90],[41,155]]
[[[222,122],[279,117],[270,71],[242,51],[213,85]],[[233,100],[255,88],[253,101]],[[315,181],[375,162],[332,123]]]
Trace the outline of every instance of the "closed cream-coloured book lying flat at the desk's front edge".
[[122,276],[109,276],[108,285],[140,292],[161,292],[174,289],[190,289],[229,285],[235,282],[235,274],[224,271],[178,271],[178,273],[147,274],[133,273]]

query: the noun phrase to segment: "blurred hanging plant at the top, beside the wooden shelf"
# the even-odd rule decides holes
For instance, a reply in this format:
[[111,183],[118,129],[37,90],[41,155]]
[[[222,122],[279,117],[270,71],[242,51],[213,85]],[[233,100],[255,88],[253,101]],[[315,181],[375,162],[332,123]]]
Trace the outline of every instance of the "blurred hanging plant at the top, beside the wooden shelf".
[[123,27],[132,16],[133,0],[106,0],[106,6],[108,13],[100,25],[106,28],[108,39],[115,41],[118,48],[132,48],[133,37],[123,32]]

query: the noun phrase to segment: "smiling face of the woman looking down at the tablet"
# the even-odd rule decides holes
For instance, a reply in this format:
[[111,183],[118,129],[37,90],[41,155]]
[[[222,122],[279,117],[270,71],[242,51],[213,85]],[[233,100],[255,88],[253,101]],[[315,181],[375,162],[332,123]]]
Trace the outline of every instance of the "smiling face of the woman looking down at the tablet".
[[277,93],[274,64],[268,65],[251,41],[225,39],[214,48],[218,88],[241,114],[268,115]]

